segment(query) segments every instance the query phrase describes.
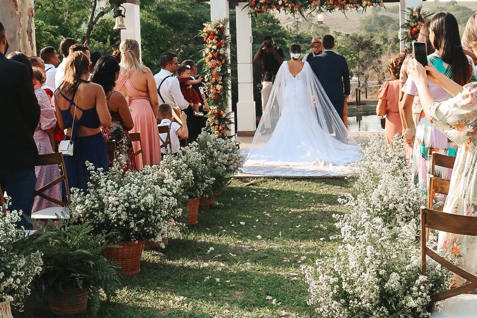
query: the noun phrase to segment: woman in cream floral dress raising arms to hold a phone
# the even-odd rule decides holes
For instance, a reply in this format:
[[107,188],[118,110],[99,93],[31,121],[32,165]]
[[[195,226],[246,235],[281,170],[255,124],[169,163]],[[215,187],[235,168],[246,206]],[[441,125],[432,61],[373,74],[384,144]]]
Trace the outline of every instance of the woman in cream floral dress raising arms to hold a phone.
[[[466,36],[477,53],[477,12],[467,23]],[[426,85],[425,70],[429,72],[429,80],[454,97],[434,102]],[[410,62],[409,71],[416,82],[422,108],[436,128],[459,147],[443,211],[477,216],[477,82],[463,88],[432,67],[425,70],[415,60]],[[457,256],[459,267],[477,275],[477,237],[441,232],[438,250],[441,254]],[[452,287],[464,283],[464,279],[456,275]]]

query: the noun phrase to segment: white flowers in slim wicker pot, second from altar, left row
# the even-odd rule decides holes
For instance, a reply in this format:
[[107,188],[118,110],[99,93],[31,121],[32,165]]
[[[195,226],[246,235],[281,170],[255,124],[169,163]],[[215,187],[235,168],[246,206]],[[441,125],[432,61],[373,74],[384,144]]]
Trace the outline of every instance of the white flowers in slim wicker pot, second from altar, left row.
[[187,221],[197,224],[199,198],[212,190],[214,178],[210,175],[204,158],[195,148],[181,148],[175,156],[166,156],[159,165],[164,175],[180,181],[183,198],[187,202]]

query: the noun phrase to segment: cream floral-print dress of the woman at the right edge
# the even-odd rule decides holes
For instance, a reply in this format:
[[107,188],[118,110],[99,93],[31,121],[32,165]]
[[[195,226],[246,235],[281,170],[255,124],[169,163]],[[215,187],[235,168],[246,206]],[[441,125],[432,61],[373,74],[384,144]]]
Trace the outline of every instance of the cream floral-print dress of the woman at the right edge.
[[[444,212],[477,216],[477,82],[464,86],[456,97],[431,106],[431,117],[458,147]],[[439,233],[438,250],[459,258],[459,267],[477,275],[477,237]],[[453,286],[464,284],[461,277]]]

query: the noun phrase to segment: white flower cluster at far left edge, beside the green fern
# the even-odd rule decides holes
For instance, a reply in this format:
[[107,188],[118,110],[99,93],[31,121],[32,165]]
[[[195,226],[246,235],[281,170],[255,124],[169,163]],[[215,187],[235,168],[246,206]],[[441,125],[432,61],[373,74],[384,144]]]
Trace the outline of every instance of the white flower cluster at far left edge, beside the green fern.
[[21,310],[23,298],[30,294],[30,284],[41,271],[41,253],[19,248],[25,231],[16,229],[19,213],[5,216],[0,211],[0,302],[10,302]]

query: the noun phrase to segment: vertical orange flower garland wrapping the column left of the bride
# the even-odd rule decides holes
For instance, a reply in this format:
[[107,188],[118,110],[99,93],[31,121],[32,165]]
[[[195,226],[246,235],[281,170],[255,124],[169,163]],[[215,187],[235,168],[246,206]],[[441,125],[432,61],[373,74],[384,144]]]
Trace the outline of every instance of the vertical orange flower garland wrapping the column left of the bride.
[[205,23],[201,33],[206,44],[203,56],[209,95],[207,129],[223,138],[227,137],[229,125],[232,124],[231,113],[227,113],[230,92],[228,24],[229,21],[226,19],[217,19]]

